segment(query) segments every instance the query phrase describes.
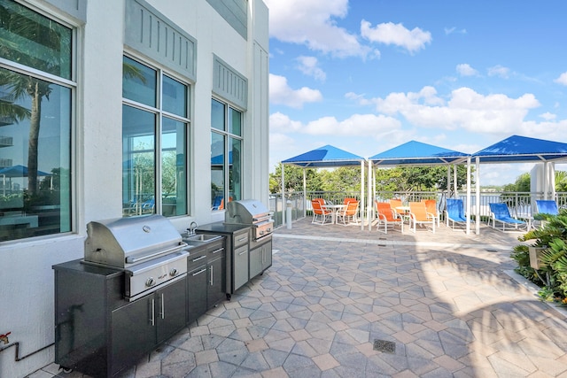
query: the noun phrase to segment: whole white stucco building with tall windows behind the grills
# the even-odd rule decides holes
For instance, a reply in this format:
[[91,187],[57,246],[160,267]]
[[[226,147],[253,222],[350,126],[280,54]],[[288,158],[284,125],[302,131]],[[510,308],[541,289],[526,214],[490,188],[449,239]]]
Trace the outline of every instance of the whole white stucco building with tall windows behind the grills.
[[24,377],[54,359],[51,266],[89,221],[181,232],[224,198],[268,204],[268,8],[0,0],[0,19],[0,376]]

